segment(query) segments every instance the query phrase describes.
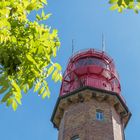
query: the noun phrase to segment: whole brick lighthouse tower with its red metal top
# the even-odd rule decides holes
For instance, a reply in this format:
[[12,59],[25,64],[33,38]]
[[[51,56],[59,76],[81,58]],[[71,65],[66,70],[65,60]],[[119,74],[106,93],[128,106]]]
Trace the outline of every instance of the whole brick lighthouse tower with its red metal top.
[[113,59],[94,49],[74,54],[51,118],[58,140],[125,140],[130,117]]

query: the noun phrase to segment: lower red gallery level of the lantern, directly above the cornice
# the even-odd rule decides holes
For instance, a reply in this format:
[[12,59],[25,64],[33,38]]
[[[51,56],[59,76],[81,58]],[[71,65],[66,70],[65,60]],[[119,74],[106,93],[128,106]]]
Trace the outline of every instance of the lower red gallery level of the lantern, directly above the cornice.
[[86,66],[75,69],[64,76],[60,95],[72,92],[80,87],[91,86],[120,94],[120,83],[109,70],[98,66]]

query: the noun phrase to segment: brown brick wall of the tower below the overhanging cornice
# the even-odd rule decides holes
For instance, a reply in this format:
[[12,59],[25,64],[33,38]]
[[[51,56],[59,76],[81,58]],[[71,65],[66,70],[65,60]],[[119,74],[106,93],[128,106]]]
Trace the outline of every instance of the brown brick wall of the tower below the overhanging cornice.
[[[96,110],[104,113],[103,120],[96,120]],[[92,99],[71,104],[63,114],[59,125],[58,140],[124,140],[120,116],[107,101]]]

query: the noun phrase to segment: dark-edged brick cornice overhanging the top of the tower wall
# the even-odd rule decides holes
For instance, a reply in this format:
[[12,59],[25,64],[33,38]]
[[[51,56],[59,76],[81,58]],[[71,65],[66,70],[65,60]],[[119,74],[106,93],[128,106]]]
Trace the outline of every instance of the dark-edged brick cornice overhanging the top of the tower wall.
[[81,87],[80,89],[70,92],[69,94],[59,96],[51,117],[54,127],[59,129],[59,124],[63,117],[64,111],[70,105],[79,102],[86,102],[92,99],[95,99],[99,102],[106,101],[111,106],[113,106],[116,112],[120,115],[123,127],[126,127],[131,117],[131,112],[129,111],[123,97],[118,93],[90,86]]

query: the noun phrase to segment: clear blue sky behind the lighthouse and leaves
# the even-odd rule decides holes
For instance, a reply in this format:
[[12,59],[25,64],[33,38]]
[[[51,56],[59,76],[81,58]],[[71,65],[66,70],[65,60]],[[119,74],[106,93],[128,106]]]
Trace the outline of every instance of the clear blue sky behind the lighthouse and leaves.
[[[106,52],[114,58],[121,79],[122,95],[132,112],[125,129],[126,140],[139,139],[140,132],[140,14],[110,11],[107,0],[48,0],[45,9],[53,15],[46,22],[59,30],[61,49],[55,61],[66,68],[75,50],[101,49],[102,33]],[[34,16],[30,15],[30,18]],[[60,83],[49,80],[50,99],[42,100],[32,91],[23,96],[16,112],[0,106],[0,140],[57,140],[58,132],[50,122],[59,95]]]

